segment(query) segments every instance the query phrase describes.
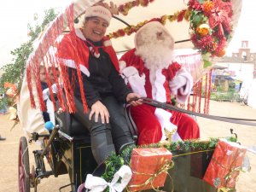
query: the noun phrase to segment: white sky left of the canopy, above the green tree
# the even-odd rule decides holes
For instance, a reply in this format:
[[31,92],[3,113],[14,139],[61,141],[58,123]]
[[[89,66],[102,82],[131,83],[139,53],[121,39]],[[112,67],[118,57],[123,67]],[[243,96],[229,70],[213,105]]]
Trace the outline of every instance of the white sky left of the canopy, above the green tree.
[[44,17],[44,10],[65,8],[72,0],[3,0],[0,6],[0,65],[11,61],[10,51],[26,43],[27,24],[33,15]]

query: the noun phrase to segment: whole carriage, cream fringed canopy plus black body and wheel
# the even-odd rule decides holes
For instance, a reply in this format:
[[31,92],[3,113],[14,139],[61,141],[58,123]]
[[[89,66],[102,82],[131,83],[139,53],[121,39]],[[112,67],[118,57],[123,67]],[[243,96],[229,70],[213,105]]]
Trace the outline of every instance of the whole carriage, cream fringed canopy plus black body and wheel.
[[[20,92],[20,99],[27,100],[27,102],[23,101],[23,106],[31,105],[32,108],[41,107],[44,109],[41,103],[40,105],[37,104],[38,101],[36,101],[36,96],[33,97],[34,90],[38,91],[38,89],[35,88],[35,85],[38,84],[38,80],[33,79],[33,75],[35,74],[32,74],[32,72],[36,72],[38,70],[38,67],[35,66],[40,65],[40,63],[43,63],[44,65],[46,61],[54,61],[51,52],[52,49],[54,49],[54,47],[56,46],[56,44],[59,44],[60,36],[62,35],[62,33],[72,29],[74,25],[79,25],[79,22],[77,21],[80,18],[83,18],[82,15],[84,14],[84,11],[86,11],[88,7],[97,2],[99,1],[80,0],[75,3],[72,3],[70,6],[67,7],[65,12],[59,15],[54,20],[54,22],[52,22],[51,25],[44,31],[44,34],[38,40],[39,43],[37,44],[35,51],[31,55],[30,59],[27,61],[26,79],[24,80],[24,86],[26,87],[23,86]],[[108,1],[104,2],[108,3]],[[194,2],[203,3],[204,1]],[[230,5],[231,3],[233,3],[233,7],[230,7],[230,9],[233,9],[233,11],[230,11],[230,13],[232,12],[234,15],[233,24],[234,26],[236,26],[236,22],[240,14],[241,1],[216,0],[207,2],[212,3],[215,6],[214,10],[225,9],[222,3],[228,2],[230,3]],[[230,38],[231,29],[226,30],[225,34],[219,36],[225,36],[225,38],[222,38],[222,41],[220,41],[219,39],[217,40],[216,37],[218,35],[212,38],[214,39],[213,43],[216,45],[216,49],[211,49],[211,51],[209,49],[203,49],[202,45],[199,44],[199,42],[197,41],[198,39],[195,39],[195,31],[199,34],[201,34],[201,32],[205,32],[204,30],[210,31],[210,27],[204,30],[202,27],[199,27],[199,24],[201,24],[203,20],[207,20],[208,18],[206,15],[204,15],[202,17],[204,19],[201,20],[200,16],[196,16],[196,13],[198,13],[199,10],[195,11],[196,8],[191,6],[191,2],[190,4],[187,4],[184,3],[184,1],[177,1],[175,3],[172,2],[169,4],[166,3],[166,1],[158,0],[155,1],[156,7],[154,7],[154,1],[147,0],[133,1],[131,3],[128,3],[127,1],[116,1],[114,3],[116,3],[119,6],[119,12],[124,15],[115,16],[116,20],[113,21],[113,24],[111,24],[111,26],[109,27],[108,32],[108,38],[114,38],[113,47],[118,52],[133,47],[133,45],[131,45],[131,38],[133,38],[131,34],[133,32],[137,32],[140,26],[143,26],[143,22],[137,24],[137,20],[150,20],[156,16],[160,17],[162,23],[166,23],[166,20],[170,20],[172,22],[172,25],[169,27],[172,28],[172,33],[176,35],[174,35],[174,38],[177,40],[178,43],[177,48],[195,47],[196,49],[201,49],[201,53],[195,53],[195,51],[189,50],[189,52],[186,52],[186,54],[177,54],[177,59],[179,59],[181,63],[183,63],[184,67],[187,67],[189,72],[192,74],[195,82],[198,82],[199,79],[201,79],[202,74],[207,73],[210,69],[210,67],[204,68],[202,66],[204,64],[205,66],[207,66],[209,64],[209,61],[214,62],[213,57],[216,55],[221,55],[221,52],[224,51],[224,44],[226,44],[224,40],[226,41],[229,40],[227,38]],[[147,7],[148,12],[142,11],[142,9],[144,9],[143,7]],[[128,14],[128,12],[130,12],[130,10],[131,12],[133,12],[133,8],[137,9],[137,13],[143,13],[143,15],[137,15],[136,13],[132,13],[131,18],[127,19],[132,22],[132,25],[129,25],[127,24],[127,22],[125,22],[125,18],[129,18],[126,15]],[[170,13],[175,14],[170,15]],[[194,17],[194,19],[191,19],[192,16]],[[189,22],[183,26],[183,22],[181,21],[186,20],[186,18]],[[211,20],[214,20],[213,13]],[[216,35],[216,33],[218,33],[218,30],[222,31],[223,28],[221,30],[221,27],[228,27],[228,21],[230,21],[230,18],[229,20],[216,21],[218,23],[216,25],[214,24],[215,26],[211,29],[212,36]],[[74,22],[78,24],[74,24]],[[118,23],[122,23],[121,25],[125,23],[128,26],[124,29],[119,29],[119,27],[122,26],[120,26],[120,24]],[[190,29],[190,31],[192,31],[192,36],[189,37],[189,33],[187,32],[183,34],[184,29],[187,29],[188,31]],[[127,36],[125,36],[125,34],[127,34]],[[121,41],[119,41],[118,38],[121,37],[125,39],[125,42],[121,43]],[[188,40],[190,38],[192,39],[193,44],[191,44],[191,41]],[[221,46],[218,46],[218,44],[221,44]],[[179,52],[183,51],[188,50],[180,50]],[[210,55],[212,57],[209,57]],[[191,58],[194,62],[191,62]],[[33,80],[36,83],[31,84]],[[26,81],[29,81],[30,83],[26,83]],[[208,87],[210,86],[208,85]],[[25,90],[26,96],[22,96],[22,91]],[[43,96],[39,92],[40,91],[38,91],[36,95],[38,96],[38,100],[40,101],[40,99],[42,100]],[[49,92],[50,94],[52,94],[52,90],[49,90]],[[87,129],[84,129],[84,125],[82,125],[81,122],[79,122],[79,119],[77,119],[76,116],[73,114],[73,108],[63,108],[63,106],[65,106],[65,102],[63,102],[63,100],[61,100],[59,96],[58,99],[56,99],[56,101],[54,96],[51,96],[50,98],[52,99],[52,102],[55,102],[55,125],[49,126],[50,124],[46,124],[45,127],[49,129],[48,131],[46,131],[44,127],[42,127],[41,125],[40,129],[44,130],[44,134],[42,134],[42,132],[38,133],[37,131],[31,131],[32,135],[30,138],[30,142],[40,141],[42,144],[41,150],[33,151],[36,167],[32,166],[32,168],[30,168],[26,137],[20,138],[19,190],[22,192],[30,191],[31,187],[34,188],[35,191],[37,191],[37,185],[40,179],[44,177],[49,177],[50,175],[58,177],[61,174],[68,174],[70,177],[70,182],[67,182],[67,185],[63,186],[62,188],[71,186],[72,191],[77,191],[79,189],[79,185],[81,183],[84,183],[85,177],[88,173],[93,173],[94,175],[97,175],[98,172],[104,172],[104,169],[102,171],[102,166],[96,168],[96,160],[94,160],[90,149],[90,134],[89,132],[84,131]],[[125,108],[124,110],[126,113],[127,120],[129,122],[132,122],[131,115],[129,113],[129,108]],[[68,111],[71,113],[69,113]],[[25,113],[21,114],[21,116],[26,116]],[[32,119],[32,117],[28,118]],[[132,123],[130,130],[134,139],[136,140],[137,129]],[[198,160],[201,160],[201,166],[199,169],[193,171],[193,169],[191,169],[191,165],[194,165],[193,162],[198,162],[195,156],[187,155],[186,157],[177,158],[178,156],[180,156],[178,154],[180,154],[181,152],[173,151],[173,154],[177,154],[177,157],[175,157],[175,155],[173,156],[173,161],[176,163],[176,166],[174,169],[172,169],[172,172],[169,173],[173,178],[173,181],[172,179],[166,179],[166,184],[163,189],[166,191],[172,191],[172,189],[174,189],[174,191],[179,192],[216,191],[217,189],[215,189],[214,187],[207,183],[202,182],[201,180],[201,177],[203,173],[206,171],[207,165],[211,160],[212,152],[213,149],[210,152],[205,152],[203,155],[200,154],[199,157],[197,158]],[[183,152],[182,154],[185,154],[185,152]],[[49,171],[47,171],[44,166],[44,157],[49,163]],[[196,177],[191,176],[190,172],[194,172],[192,175],[196,175]],[[172,182],[174,182],[174,185],[170,184]]]

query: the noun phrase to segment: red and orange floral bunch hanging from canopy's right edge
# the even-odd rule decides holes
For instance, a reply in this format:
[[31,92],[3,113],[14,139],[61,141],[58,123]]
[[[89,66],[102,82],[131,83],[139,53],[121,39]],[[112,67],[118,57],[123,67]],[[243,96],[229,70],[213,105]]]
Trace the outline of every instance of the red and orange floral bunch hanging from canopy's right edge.
[[195,49],[202,55],[224,56],[230,39],[232,3],[227,0],[189,0],[188,6],[191,11],[190,38]]

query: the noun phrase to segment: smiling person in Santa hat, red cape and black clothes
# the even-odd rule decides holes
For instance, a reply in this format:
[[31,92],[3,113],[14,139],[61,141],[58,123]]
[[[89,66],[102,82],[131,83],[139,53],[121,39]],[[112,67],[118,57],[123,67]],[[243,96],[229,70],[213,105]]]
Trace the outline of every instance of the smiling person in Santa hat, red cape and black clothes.
[[[98,164],[133,145],[123,104],[140,104],[134,100],[140,96],[120,77],[116,53],[105,37],[111,18],[111,12],[101,5],[86,9],[82,28],[65,35],[56,53],[67,66],[67,76],[63,75],[65,68],[61,68],[61,79],[64,85],[68,80],[73,82],[71,90],[79,100],[74,116],[89,129],[92,153]],[[66,81],[65,77],[68,77]],[[86,96],[88,113],[82,108],[83,96]]]

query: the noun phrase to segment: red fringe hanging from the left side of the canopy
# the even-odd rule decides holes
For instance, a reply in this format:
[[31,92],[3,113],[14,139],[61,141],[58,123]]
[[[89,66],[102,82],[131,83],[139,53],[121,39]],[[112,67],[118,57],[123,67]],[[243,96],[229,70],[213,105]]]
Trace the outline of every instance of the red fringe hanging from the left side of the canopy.
[[[58,44],[61,42],[61,34],[65,30],[64,27],[64,18],[67,19],[67,26],[70,30],[74,29],[73,19],[74,19],[74,10],[73,4],[71,4],[65,11],[64,14],[59,15],[52,22],[51,26],[44,32],[44,36],[38,40],[38,47],[35,49],[34,54],[31,56],[30,60],[28,60],[28,64],[26,67],[26,79],[27,86],[30,94],[31,106],[32,108],[36,108],[38,105],[35,102],[33,96],[33,90],[35,89],[38,92],[38,104],[41,110],[45,111],[46,106],[43,98],[43,91],[41,87],[40,81],[40,65],[44,66],[44,73],[46,75],[47,84],[49,87],[49,96],[51,101],[54,103],[54,108],[56,110],[56,103],[53,94],[53,90],[51,88],[52,82],[50,82],[50,74],[51,70],[53,73],[54,81],[57,87],[57,97],[58,102],[62,110],[68,111],[69,113],[75,113],[75,103],[74,103],[74,94],[73,94],[73,80],[69,80],[69,76],[67,73],[67,67],[64,65],[61,60],[57,60],[55,58],[55,49],[58,47]],[[75,40],[73,40],[73,46],[77,46],[75,44]],[[78,48],[79,49],[79,48]],[[79,79],[80,91],[84,93],[84,86],[82,82],[82,75],[79,68],[79,63],[75,62],[77,67],[77,73],[73,74],[73,76],[77,76]],[[59,74],[60,73],[60,74]],[[60,76],[60,77],[59,77]],[[63,88],[59,82],[61,78],[61,84],[63,84]],[[65,91],[65,95],[61,90]],[[81,100],[84,107],[84,113],[87,112],[87,102],[84,94],[81,94]]]

